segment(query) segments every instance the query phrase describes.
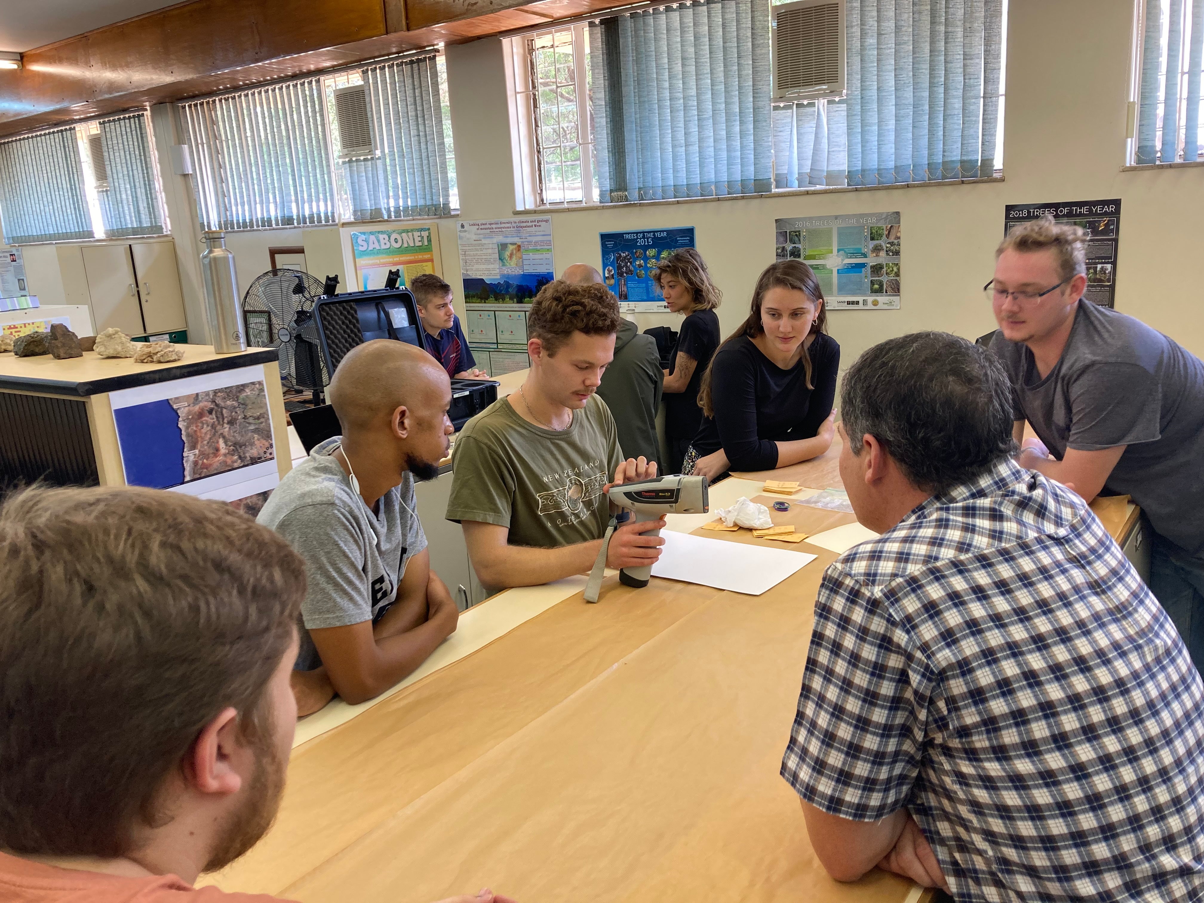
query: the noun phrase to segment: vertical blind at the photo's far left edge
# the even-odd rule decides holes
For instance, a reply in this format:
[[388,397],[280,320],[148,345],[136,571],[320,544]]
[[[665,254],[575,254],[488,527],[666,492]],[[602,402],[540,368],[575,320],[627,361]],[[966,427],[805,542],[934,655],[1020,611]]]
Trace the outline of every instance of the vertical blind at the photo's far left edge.
[[12,244],[95,237],[73,125],[0,142],[0,217]]

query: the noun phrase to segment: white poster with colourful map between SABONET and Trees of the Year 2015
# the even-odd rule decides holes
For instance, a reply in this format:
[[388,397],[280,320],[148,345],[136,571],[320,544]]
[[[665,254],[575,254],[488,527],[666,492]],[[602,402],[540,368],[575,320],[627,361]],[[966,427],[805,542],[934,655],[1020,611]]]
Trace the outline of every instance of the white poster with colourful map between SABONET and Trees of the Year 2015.
[[556,278],[551,217],[460,220],[465,303],[521,305]]

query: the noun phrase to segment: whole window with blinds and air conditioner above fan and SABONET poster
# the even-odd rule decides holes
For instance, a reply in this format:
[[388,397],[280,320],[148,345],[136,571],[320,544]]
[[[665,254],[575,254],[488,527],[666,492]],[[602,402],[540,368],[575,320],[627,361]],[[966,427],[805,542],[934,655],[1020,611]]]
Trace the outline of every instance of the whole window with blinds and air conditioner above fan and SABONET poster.
[[459,207],[442,54],[182,108],[206,229],[435,217]]

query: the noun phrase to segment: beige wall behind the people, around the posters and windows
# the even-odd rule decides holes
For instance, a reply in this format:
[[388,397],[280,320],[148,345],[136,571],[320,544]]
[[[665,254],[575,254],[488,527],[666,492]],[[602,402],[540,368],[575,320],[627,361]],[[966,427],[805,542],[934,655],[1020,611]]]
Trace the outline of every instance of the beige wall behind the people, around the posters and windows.
[[[1204,234],[1204,167],[1121,172],[1132,19],[1132,0],[1010,0],[1003,182],[554,212],[556,267],[597,265],[600,231],[692,225],[724,290],[726,334],[744,318],[757,273],[773,261],[777,217],[898,209],[901,309],[832,313],[848,366],[890,336],[943,329],[975,337],[993,329],[980,288],[991,278],[1004,205],[1121,197],[1117,308],[1204,355],[1204,308],[1191,265]],[[448,47],[447,55],[462,216],[514,216],[501,41]],[[455,228],[454,219],[439,222],[444,277],[453,285],[460,275]],[[230,234],[240,288],[267,270],[268,246],[302,244],[301,232]],[[36,283],[36,275],[30,279]]]

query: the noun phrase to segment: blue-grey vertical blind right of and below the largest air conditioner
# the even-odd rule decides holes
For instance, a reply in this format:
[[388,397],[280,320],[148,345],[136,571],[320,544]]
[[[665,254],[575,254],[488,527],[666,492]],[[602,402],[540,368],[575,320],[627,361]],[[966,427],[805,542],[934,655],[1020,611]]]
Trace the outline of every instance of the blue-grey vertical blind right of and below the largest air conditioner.
[[774,108],[778,188],[995,175],[1003,0],[848,0],[846,96]]

